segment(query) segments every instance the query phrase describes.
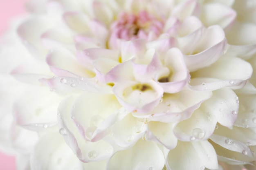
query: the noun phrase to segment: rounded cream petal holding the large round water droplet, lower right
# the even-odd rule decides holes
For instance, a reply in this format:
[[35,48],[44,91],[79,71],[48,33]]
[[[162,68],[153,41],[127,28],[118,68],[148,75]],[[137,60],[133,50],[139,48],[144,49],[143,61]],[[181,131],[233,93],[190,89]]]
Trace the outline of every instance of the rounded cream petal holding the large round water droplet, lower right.
[[202,103],[193,115],[174,127],[175,136],[181,141],[207,140],[213,134],[217,123],[213,114],[207,113],[207,106]]

